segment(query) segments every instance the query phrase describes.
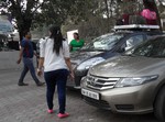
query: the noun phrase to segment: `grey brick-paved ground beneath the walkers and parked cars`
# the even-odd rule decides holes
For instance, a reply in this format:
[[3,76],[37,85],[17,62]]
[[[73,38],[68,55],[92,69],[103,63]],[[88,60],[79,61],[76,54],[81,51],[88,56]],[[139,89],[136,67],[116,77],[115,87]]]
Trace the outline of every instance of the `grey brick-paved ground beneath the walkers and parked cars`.
[[[46,112],[45,86],[36,87],[30,74],[25,78],[28,87],[19,87],[20,69],[0,70],[0,122],[158,122],[154,114],[114,114],[86,104],[79,91],[67,90],[67,112],[69,118],[59,120],[57,97],[55,113]],[[41,78],[43,81],[43,78]]]

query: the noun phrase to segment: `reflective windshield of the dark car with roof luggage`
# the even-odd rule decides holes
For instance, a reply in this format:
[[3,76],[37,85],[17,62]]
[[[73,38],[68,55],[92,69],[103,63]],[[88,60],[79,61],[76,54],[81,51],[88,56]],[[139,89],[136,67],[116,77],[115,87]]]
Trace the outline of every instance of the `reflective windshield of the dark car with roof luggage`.
[[92,42],[88,43],[85,47],[82,47],[82,49],[110,51],[123,36],[124,35],[120,33],[118,34],[111,33],[111,34],[102,35],[92,40]]

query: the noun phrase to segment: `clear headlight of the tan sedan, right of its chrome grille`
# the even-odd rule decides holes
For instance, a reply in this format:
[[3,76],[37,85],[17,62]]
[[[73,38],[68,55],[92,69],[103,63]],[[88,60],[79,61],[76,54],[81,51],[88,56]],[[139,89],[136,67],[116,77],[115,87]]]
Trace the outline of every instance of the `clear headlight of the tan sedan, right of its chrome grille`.
[[120,88],[120,87],[133,87],[133,86],[140,86],[150,81],[153,81],[155,79],[157,79],[158,76],[154,75],[154,76],[144,76],[144,77],[136,77],[136,78],[121,78],[116,87]]

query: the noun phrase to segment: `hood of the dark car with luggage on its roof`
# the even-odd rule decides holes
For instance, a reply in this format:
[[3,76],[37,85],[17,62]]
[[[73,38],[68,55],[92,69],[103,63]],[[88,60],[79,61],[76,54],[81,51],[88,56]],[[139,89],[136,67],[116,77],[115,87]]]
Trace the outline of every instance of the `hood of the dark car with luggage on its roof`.
[[81,62],[86,60],[87,58],[99,55],[101,53],[103,52],[86,52],[86,51],[74,52],[70,54],[70,59],[73,64],[78,65]]

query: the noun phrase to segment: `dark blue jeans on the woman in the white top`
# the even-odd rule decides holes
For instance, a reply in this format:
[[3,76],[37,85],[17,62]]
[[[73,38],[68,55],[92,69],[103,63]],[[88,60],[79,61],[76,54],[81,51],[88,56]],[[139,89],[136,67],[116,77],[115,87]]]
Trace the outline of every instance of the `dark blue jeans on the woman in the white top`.
[[67,81],[68,70],[58,69],[54,71],[47,71],[44,74],[45,81],[47,85],[46,99],[48,109],[53,109],[53,98],[55,92],[55,87],[57,85],[58,92],[58,103],[59,113],[65,113],[66,106],[66,81]]

